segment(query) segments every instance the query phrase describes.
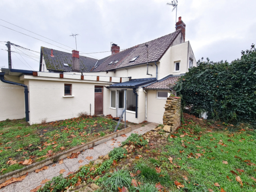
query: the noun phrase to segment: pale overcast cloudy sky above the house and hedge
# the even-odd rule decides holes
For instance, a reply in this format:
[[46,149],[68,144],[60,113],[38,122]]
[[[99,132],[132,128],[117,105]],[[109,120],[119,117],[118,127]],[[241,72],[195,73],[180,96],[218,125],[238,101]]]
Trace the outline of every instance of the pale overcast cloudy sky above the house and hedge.
[[[8,67],[7,41],[37,52],[44,46],[71,53],[76,43],[70,35],[79,34],[80,55],[101,59],[111,54],[111,42],[125,49],[170,34],[175,31],[176,10],[172,12],[167,2],[1,0],[0,68]],[[255,0],[178,0],[177,19],[182,16],[186,24],[185,41],[196,60],[240,58],[242,50],[256,43],[255,7]],[[39,70],[39,53],[15,46],[11,50],[13,68]],[[94,53],[102,51],[109,52]]]

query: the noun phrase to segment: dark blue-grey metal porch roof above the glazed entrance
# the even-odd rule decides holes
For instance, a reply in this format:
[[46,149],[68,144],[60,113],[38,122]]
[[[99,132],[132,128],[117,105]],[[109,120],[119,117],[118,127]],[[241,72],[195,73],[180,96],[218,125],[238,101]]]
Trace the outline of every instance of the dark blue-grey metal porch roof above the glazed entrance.
[[156,78],[132,79],[123,83],[116,83],[108,86],[108,88],[138,88],[139,86],[147,85],[155,82]]

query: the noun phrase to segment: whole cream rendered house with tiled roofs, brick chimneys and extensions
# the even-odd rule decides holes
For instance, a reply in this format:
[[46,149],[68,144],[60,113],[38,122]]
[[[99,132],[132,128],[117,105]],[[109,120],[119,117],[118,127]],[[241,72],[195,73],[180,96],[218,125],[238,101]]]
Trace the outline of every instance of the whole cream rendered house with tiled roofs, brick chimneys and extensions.
[[[0,93],[0,121],[26,116],[34,124],[80,112],[118,117],[126,104],[129,122],[162,124],[168,85],[195,66],[181,17],[176,26],[173,33],[123,51],[112,44],[112,54],[100,60],[41,47],[39,71],[2,69],[1,86],[16,89]],[[23,93],[25,86],[29,93]]]

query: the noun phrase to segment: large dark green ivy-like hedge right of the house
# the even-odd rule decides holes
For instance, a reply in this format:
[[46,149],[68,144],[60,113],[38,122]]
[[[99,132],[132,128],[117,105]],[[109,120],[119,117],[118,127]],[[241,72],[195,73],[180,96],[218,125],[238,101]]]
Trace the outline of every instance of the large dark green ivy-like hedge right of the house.
[[[202,58],[203,59],[203,58]],[[231,63],[198,61],[173,87],[184,112],[224,122],[256,124],[256,49]]]

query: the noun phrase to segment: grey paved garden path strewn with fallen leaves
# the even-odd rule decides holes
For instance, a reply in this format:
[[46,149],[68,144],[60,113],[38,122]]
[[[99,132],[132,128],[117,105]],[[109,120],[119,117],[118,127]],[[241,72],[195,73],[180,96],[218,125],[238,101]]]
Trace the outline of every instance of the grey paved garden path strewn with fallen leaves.
[[[128,137],[131,133],[144,134],[147,131],[150,131],[156,128],[156,125],[158,124],[149,123],[144,127],[140,127],[140,128],[133,127],[132,129],[134,130],[125,135]],[[76,172],[77,170],[79,170],[79,166],[86,165],[90,161],[94,161],[98,159],[99,156],[108,154],[114,147],[119,147],[118,144],[121,144],[121,142],[125,141],[126,138],[119,136],[115,138],[116,139],[115,143],[113,143],[113,141],[110,140],[110,141],[107,141],[106,143],[99,144],[93,147],[93,149],[87,149],[81,152],[78,158],[74,158],[74,159],[65,158],[62,164],[58,164],[58,162],[52,163],[48,165],[49,168],[47,170],[43,170],[38,173],[31,172],[26,176],[26,179],[24,179],[23,181],[14,182],[9,186],[3,187],[2,189],[0,189],[0,192],[30,192],[31,189],[35,189],[37,186],[42,185],[40,184],[42,180],[52,179],[53,177],[60,175],[60,170],[62,169],[66,170],[63,173],[64,176],[66,176],[67,173],[69,172]],[[120,143],[118,143],[118,141],[120,141]],[[88,156],[89,157],[92,156],[93,159],[90,161],[87,160],[86,157]],[[81,162],[80,160],[82,160],[83,162]],[[78,161],[80,161],[81,163],[79,163]],[[54,164],[56,166],[53,166]]]

